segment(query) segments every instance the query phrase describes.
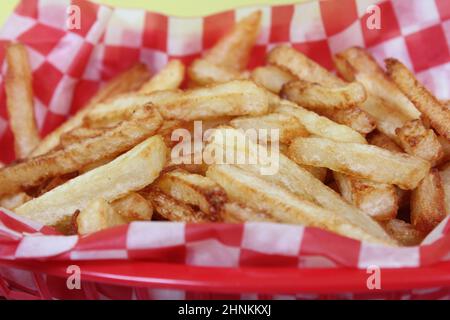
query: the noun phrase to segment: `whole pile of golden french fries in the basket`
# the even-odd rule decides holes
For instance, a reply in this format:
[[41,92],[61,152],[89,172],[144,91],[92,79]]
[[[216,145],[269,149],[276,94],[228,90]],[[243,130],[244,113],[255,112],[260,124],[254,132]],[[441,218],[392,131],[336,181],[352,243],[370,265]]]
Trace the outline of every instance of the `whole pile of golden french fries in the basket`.
[[[260,12],[245,17],[187,70],[177,60],[153,77],[132,67],[42,139],[26,49],[10,45],[5,83],[19,160],[0,169],[0,205],[65,234],[136,220],[269,221],[420,243],[450,213],[449,104],[401,62],[387,59],[384,70],[362,48],[334,56],[339,76],[288,46],[247,70],[260,22]],[[270,141],[280,146],[278,171],[180,164],[172,133],[192,132],[194,121],[212,132],[201,152],[242,157],[269,148],[244,130],[278,130]]]

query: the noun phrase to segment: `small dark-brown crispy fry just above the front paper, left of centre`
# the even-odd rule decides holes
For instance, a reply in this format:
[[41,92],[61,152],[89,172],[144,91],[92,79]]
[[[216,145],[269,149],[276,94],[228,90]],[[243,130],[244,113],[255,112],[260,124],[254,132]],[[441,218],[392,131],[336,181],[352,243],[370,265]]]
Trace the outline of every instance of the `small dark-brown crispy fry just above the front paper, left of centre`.
[[169,221],[205,223],[212,222],[210,216],[202,211],[195,211],[187,204],[175,200],[158,190],[152,190],[147,194],[155,211]]

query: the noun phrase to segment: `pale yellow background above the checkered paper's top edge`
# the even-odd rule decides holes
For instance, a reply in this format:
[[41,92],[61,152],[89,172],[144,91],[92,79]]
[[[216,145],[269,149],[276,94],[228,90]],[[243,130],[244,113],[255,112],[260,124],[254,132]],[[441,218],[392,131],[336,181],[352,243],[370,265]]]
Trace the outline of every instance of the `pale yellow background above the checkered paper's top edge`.
[[[0,26],[19,0],[0,0]],[[214,12],[254,4],[287,4],[305,0],[96,0],[95,2],[127,8],[145,8],[176,16],[203,16]]]

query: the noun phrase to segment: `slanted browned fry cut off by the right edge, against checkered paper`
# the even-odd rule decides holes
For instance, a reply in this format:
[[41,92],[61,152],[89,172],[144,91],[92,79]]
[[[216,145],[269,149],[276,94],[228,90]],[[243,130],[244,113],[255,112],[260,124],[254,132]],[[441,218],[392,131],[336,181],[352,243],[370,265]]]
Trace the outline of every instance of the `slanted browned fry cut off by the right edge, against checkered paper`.
[[431,94],[400,61],[387,59],[389,76],[429,120],[432,127],[447,140],[450,140],[450,110]]

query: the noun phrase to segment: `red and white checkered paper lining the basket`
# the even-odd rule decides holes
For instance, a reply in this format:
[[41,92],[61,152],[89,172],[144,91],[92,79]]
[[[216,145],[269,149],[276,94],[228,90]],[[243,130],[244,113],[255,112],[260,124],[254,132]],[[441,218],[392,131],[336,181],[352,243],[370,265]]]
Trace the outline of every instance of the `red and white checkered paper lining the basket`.
[[[80,30],[67,30],[71,4],[81,8]],[[372,4],[381,8],[381,30],[366,26],[366,10]],[[333,53],[358,45],[367,47],[380,62],[399,58],[438,97],[450,98],[448,0],[312,1],[240,8],[203,18],[168,17],[84,0],[22,0],[0,32],[0,63],[7,43],[19,41],[27,46],[37,121],[45,135],[82,107],[105,81],[137,61],[152,71],[172,58],[189,63],[236,20],[257,9],[263,12],[263,29],[250,68],[263,64],[273,46],[290,43],[332,69]],[[2,70],[0,159],[9,162],[13,140],[6,115],[4,65]],[[450,219],[421,246],[388,248],[315,228],[271,223],[134,222],[86,237],[61,236],[1,210],[0,259],[148,259],[221,267],[420,267],[450,260]],[[448,296],[448,290],[444,291],[433,292],[441,293],[435,297]]]

